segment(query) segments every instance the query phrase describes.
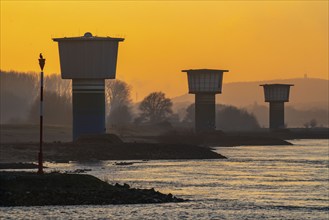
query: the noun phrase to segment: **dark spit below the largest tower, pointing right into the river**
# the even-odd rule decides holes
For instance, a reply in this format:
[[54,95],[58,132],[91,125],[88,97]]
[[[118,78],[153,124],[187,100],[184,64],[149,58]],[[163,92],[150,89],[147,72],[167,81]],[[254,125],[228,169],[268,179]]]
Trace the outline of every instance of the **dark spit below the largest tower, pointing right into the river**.
[[[1,143],[0,162],[37,161],[39,143]],[[49,162],[99,160],[226,159],[211,148],[188,144],[67,142],[44,143]]]

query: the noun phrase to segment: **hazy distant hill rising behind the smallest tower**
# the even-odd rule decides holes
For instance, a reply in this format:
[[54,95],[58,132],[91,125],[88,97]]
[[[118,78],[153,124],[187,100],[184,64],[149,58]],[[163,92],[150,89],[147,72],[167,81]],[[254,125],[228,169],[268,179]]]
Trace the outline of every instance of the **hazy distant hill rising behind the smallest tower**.
[[[329,126],[328,111],[329,81],[325,79],[298,78],[258,82],[237,82],[223,85],[223,93],[216,95],[216,103],[245,108],[253,113],[259,124],[268,127],[268,103],[264,102],[264,92],[260,84],[294,84],[290,89],[290,102],[285,108],[285,122],[289,127],[303,127],[312,119],[318,126]],[[172,99],[174,110],[181,117],[186,107],[194,103],[193,94],[185,94]]]

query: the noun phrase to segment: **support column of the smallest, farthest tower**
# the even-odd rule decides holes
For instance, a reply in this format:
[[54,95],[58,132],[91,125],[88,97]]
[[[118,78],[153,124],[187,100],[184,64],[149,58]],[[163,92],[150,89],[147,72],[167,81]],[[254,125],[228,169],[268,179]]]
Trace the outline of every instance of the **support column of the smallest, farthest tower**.
[[285,128],[284,102],[270,102],[270,129]]

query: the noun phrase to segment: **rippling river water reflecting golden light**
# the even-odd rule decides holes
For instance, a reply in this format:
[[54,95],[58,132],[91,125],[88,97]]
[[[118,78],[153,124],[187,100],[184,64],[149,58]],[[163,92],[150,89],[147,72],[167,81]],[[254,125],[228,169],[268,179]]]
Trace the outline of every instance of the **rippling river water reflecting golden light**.
[[47,164],[92,169],[110,183],[155,188],[185,203],[0,208],[1,219],[329,219],[329,140],[215,148],[227,160]]

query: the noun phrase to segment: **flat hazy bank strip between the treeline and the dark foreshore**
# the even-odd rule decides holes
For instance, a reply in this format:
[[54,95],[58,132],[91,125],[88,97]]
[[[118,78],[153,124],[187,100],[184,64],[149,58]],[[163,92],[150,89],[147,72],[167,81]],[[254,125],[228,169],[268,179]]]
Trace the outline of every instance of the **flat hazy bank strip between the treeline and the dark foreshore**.
[[[152,127],[127,127],[121,129],[109,129],[111,133],[117,134],[124,142],[158,142],[159,136],[173,133],[188,133],[186,129],[157,130]],[[216,144],[222,145],[277,145],[280,140],[292,139],[329,139],[328,128],[289,128],[276,131],[269,129],[258,129],[255,131],[215,131],[216,135],[221,137],[221,141]],[[228,137],[225,140],[225,136]],[[241,138],[242,137],[242,138]],[[236,141],[240,138],[240,141]],[[276,139],[276,140],[275,140]],[[280,139],[280,140],[278,140]],[[1,124],[0,125],[1,143],[28,143],[39,141],[39,125],[37,124]],[[262,143],[260,143],[260,140]],[[72,141],[72,128],[65,126],[45,125],[44,126],[45,142],[70,142]],[[281,142],[282,143],[282,142]],[[192,142],[192,144],[196,144]],[[236,146],[237,146],[236,145]]]

